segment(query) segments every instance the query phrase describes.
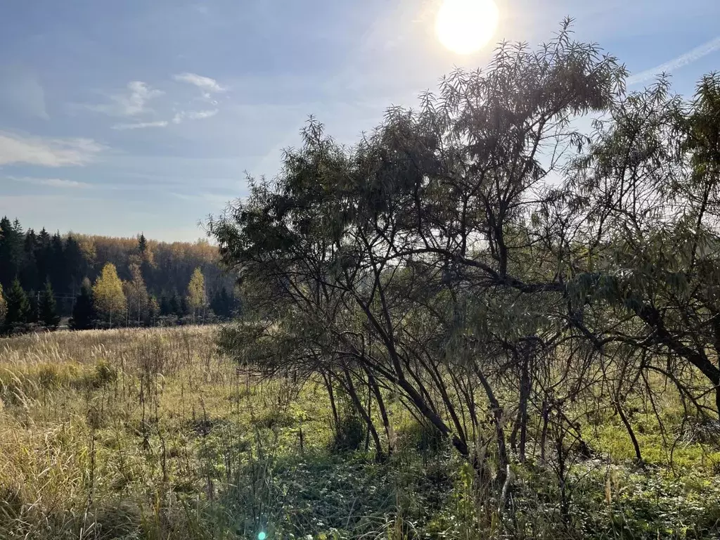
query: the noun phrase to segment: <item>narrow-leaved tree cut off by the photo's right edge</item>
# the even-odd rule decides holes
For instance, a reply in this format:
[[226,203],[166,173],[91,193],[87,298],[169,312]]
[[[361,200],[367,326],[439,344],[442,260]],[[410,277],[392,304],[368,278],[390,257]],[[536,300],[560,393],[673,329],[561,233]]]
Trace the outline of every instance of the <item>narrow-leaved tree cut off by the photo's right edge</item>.
[[[576,225],[567,252],[574,302],[606,312],[577,328],[598,351],[624,346],[636,369],[664,375],[702,411],[698,397],[713,393],[712,415],[720,413],[719,133],[717,76],[703,77],[690,102],[665,78],[624,96],[570,168],[565,189],[577,204],[562,212]],[[696,374],[702,387],[690,384]]]

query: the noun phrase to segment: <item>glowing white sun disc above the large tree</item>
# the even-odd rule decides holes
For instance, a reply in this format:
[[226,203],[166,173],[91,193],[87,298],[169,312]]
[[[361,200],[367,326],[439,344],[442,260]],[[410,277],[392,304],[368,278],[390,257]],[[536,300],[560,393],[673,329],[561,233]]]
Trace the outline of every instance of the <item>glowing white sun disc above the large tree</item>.
[[498,28],[499,18],[493,0],[444,0],[435,30],[446,48],[467,55],[487,45]]

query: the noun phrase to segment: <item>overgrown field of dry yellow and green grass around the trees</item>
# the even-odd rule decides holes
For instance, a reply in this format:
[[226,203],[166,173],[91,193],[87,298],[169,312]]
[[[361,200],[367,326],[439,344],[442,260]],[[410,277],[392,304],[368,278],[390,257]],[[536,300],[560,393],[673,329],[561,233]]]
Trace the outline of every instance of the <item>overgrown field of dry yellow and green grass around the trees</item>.
[[631,418],[642,466],[608,413],[585,428],[592,453],[562,482],[552,459],[513,464],[500,511],[472,467],[400,407],[397,451],[378,464],[356,419],[338,441],[321,385],[255,381],[214,339],[215,328],[184,327],[1,340],[0,538],[720,534],[712,426],[678,421],[670,390],[654,406],[680,428],[661,433],[643,403]]

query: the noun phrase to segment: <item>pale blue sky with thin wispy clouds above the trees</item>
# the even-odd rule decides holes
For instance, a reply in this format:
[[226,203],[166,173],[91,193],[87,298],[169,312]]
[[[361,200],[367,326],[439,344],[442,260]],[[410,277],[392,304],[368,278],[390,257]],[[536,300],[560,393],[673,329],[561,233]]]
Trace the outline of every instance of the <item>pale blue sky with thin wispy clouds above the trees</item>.
[[341,143],[493,43],[578,40],[692,94],[720,68],[718,0],[495,0],[491,44],[437,40],[440,0],[2,0],[0,215],[25,228],[194,240],[273,176],[312,114]]

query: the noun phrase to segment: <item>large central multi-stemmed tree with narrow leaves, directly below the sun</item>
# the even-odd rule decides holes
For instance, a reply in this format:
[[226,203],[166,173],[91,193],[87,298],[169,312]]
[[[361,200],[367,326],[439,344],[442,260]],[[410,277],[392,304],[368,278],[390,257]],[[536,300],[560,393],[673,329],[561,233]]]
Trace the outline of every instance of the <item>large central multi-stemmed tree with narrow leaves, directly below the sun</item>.
[[226,348],[360,385],[384,423],[390,390],[473,462],[473,447],[495,440],[503,471],[507,404],[494,385],[517,374],[524,426],[528,366],[570,328],[560,225],[531,217],[557,199],[546,182],[585,143],[572,119],[606,112],[622,91],[624,69],[572,41],[568,24],[537,50],[504,44],[487,70],[456,71],[417,112],[390,109],[353,148],[311,122],[276,179],[251,182],[210,222],[258,314],[225,332]]

